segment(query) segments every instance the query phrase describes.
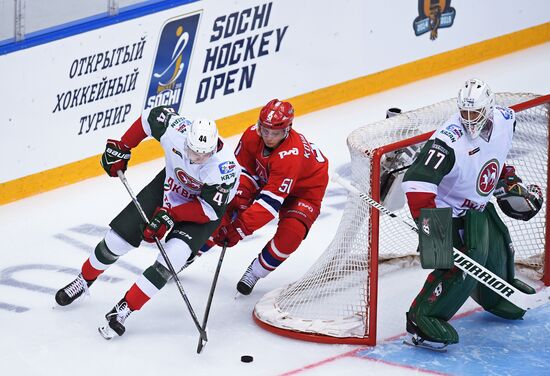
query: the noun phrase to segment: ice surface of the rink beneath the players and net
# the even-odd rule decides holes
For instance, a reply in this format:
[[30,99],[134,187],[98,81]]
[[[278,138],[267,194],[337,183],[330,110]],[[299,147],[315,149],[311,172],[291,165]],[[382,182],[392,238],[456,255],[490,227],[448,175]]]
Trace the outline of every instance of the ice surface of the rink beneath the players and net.
[[[349,163],[347,135],[383,118],[388,107],[408,111],[449,99],[470,77],[486,80],[495,92],[548,94],[549,72],[550,43],[546,43],[298,116],[294,127],[321,148],[334,173]],[[229,146],[233,148],[237,139],[228,139]],[[163,166],[161,159],[136,166],[130,162],[128,181],[138,191]],[[334,183],[308,238],[278,270],[260,280],[250,296],[236,297],[235,285],[273,234],[275,221],[228,249],[202,354],[196,353],[198,332],[174,283],[126,321],[123,337],[106,341],[97,327],[156,258],[154,245],[119,260],[94,284],[90,296],[72,306],[56,306],[53,296],[78,274],[111,217],[128,201],[120,181],[105,175],[0,206],[0,374],[550,374],[550,304],[529,311],[523,321],[510,322],[480,311],[469,300],[452,321],[460,343],[446,353],[402,345],[405,312],[428,273],[420,267],[380,276],[374,348],[302,342],[258,327],[251,316],[256,301],[299,278],[333,238],[346,201],[345,191]],[[215,248],[180,274],[200,321],[218,256]],[[538,281],[530,283],[542,287]],[[242,363],[241,355],[251,355],[254,361]]]

